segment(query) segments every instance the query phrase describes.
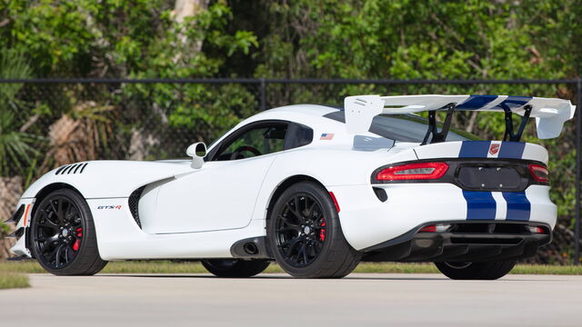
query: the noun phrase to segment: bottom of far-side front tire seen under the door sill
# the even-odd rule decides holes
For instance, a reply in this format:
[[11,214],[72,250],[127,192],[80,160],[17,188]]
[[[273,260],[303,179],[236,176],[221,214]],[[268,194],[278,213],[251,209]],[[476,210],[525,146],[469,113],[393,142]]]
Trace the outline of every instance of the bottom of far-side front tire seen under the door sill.
[[217,277],[251,277],[264,272],[266,260],[207,259],[202,261],[206,270]]

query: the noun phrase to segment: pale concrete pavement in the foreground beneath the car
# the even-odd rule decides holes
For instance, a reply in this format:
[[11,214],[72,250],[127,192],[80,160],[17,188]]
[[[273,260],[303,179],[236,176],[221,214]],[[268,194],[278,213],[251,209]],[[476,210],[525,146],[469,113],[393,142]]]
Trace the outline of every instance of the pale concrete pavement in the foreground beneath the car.
[[582,326],[582,276],[30,277],[32,288],[0,291],[0,326]]

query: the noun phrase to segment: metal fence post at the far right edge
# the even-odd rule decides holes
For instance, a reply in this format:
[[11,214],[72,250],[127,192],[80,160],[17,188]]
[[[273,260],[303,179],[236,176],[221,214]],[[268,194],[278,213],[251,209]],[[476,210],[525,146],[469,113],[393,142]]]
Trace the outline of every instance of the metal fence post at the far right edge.
[[582,77],[576,83],[576,221],[574,222],[574,264],[580,263],[580,130],[582,129]]

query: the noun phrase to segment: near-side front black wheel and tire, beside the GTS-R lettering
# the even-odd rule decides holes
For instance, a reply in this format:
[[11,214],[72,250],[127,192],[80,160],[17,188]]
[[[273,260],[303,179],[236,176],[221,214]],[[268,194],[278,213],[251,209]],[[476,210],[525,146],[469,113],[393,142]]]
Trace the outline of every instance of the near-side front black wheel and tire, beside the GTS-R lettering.
[[36,260],[55,275],[93,275],[107,264],[97,250],[93,215],[73,190],[49,193],[38,204],[29,235]]

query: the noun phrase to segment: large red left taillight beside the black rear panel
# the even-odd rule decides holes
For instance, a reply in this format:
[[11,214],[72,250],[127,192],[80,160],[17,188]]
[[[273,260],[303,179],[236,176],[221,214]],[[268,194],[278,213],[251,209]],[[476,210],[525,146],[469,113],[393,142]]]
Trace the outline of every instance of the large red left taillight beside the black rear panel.
[[447,173],[447,163],[406,163],[388,167],[376,174],[378,181],[430,180]]

